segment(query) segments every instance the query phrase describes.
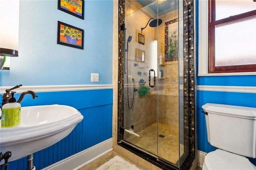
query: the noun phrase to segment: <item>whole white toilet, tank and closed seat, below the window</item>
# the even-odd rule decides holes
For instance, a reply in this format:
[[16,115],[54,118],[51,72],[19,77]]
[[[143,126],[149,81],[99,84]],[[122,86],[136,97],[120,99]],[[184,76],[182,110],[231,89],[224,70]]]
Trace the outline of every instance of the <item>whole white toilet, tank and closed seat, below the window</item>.
[[246,157],[256,158],[256,108],[206,103],[202,105],[208,142],[202,170],[256,170]]

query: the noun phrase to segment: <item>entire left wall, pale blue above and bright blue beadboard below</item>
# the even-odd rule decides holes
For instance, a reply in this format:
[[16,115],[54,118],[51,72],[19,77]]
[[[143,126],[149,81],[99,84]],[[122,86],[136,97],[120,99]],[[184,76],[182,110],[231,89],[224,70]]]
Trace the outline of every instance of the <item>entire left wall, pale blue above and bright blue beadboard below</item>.
[[[113,1],[85,0],[84,20],[57,6],[57,0],[20,1],[19,57],[11,58],[10,71],[0,71],[0,87],[112,85]],[[84,30],[83,50],[57,44],[58,21]],[[90,73],[99,73],[99,82],[90,82]],[[112,137],[112,89],[37,95],[34,100],[25,96],[21,105],[69,105],[84,119],[66,138],[34,154],[36,169]],[[8,169],[25,170],[26,158],[11,162]]]

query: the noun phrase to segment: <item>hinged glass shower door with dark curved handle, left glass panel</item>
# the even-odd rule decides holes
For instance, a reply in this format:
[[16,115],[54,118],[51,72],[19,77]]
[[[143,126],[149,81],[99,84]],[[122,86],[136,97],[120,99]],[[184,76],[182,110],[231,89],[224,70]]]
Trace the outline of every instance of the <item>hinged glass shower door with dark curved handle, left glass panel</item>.
[[157,32],[156,27],[150,26],[156,16],[145,14],[146,8],[125,17],[123,142],[156,156],[158,70],[154,69],[157,64],[154,64],[157,57],[154,40]]

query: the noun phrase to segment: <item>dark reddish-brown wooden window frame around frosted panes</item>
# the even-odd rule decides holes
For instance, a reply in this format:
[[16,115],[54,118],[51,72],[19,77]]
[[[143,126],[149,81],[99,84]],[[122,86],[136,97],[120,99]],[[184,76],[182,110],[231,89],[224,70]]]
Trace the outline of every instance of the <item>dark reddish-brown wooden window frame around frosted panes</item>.
[[256,72],[256,64],[215,66],[215,26],[252,16],[256,10],[215,20],[215,0],[208,0],[208,73]]

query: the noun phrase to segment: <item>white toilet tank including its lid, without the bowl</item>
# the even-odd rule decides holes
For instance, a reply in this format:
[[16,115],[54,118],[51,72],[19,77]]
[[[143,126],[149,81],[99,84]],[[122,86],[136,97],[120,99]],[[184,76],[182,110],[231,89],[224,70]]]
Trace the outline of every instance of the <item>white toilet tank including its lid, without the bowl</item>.
[[256,158],[256,108],[206,103],[202,105],[208,142],[228,152]]

